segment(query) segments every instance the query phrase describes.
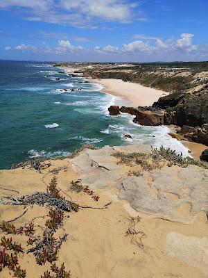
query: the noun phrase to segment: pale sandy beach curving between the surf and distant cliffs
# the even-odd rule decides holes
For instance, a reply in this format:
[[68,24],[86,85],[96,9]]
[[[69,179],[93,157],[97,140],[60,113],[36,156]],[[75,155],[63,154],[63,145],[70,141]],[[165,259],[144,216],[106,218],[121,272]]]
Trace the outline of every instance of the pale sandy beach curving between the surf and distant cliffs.
[[139,83],[124,82],[121,79],[92,79],[94,83],[104,86],[103,91],[111,95],[128,99],[132,106],[151,106],[168,92],[144,87]]

